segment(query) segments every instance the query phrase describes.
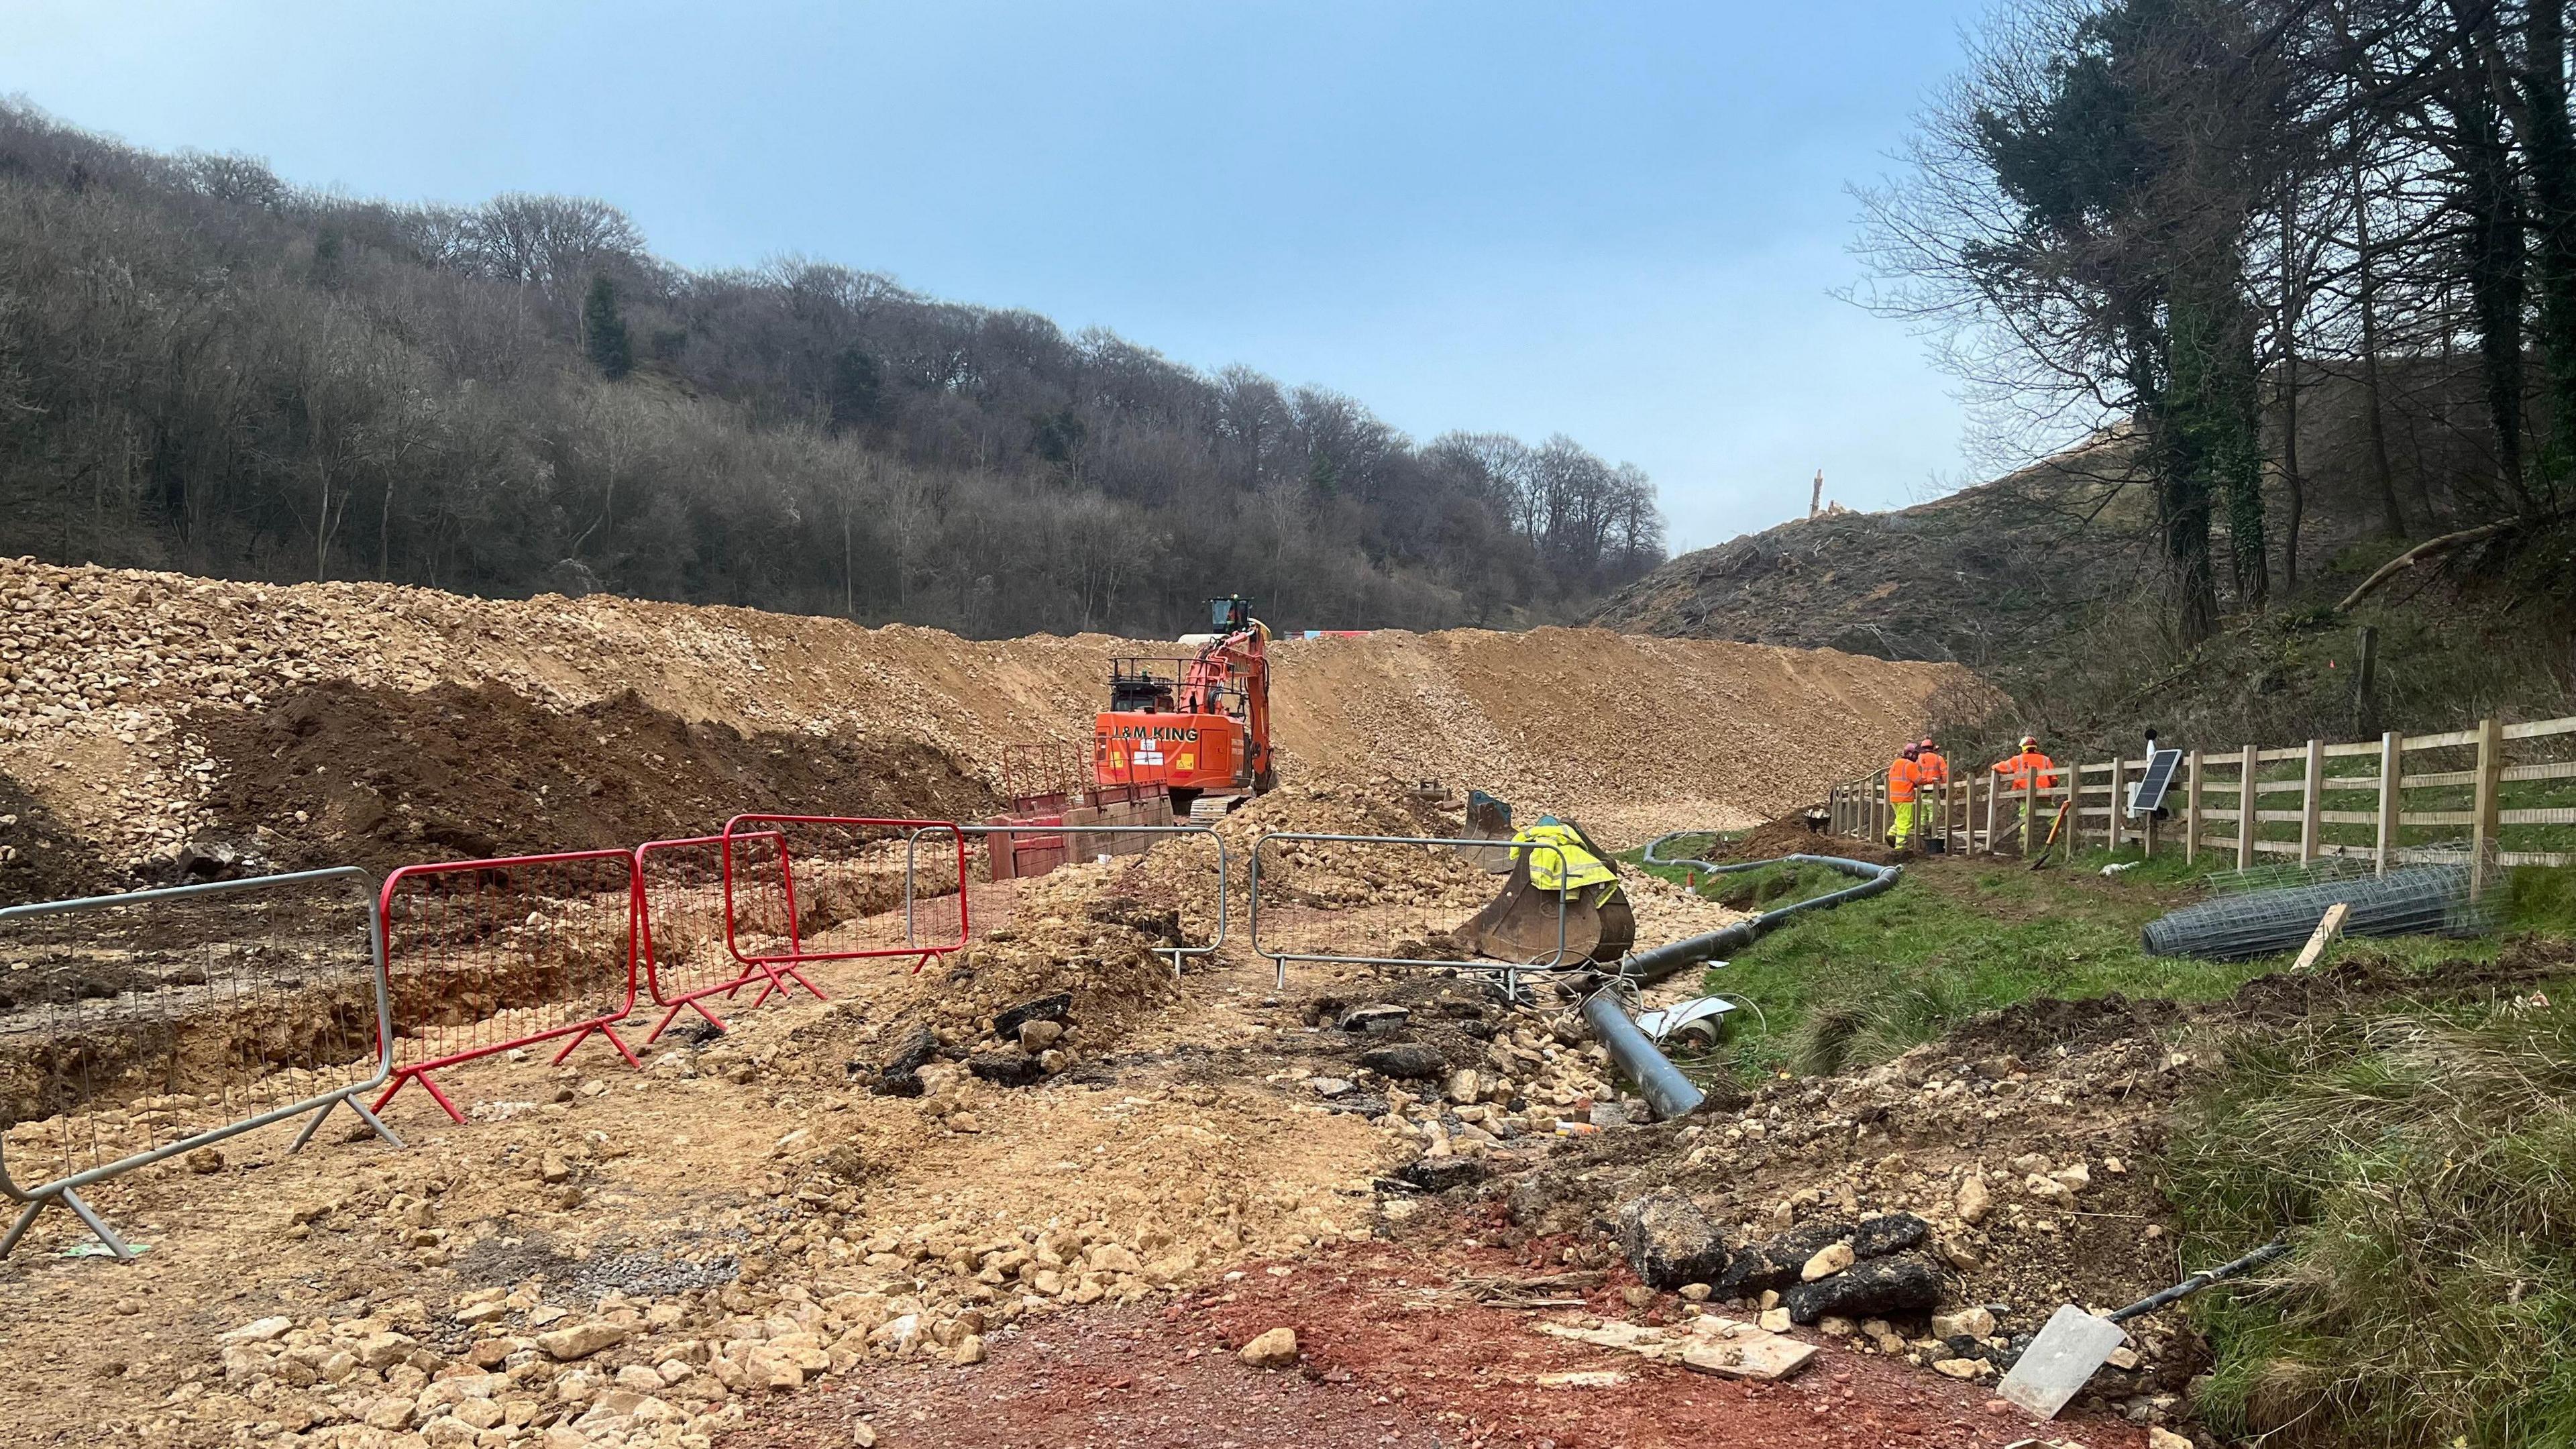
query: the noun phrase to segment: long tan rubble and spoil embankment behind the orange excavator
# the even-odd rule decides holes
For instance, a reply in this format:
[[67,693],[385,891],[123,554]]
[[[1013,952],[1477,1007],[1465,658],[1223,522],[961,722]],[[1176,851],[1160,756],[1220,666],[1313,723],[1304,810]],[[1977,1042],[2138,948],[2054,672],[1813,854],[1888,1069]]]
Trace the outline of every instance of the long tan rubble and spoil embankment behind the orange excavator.
[[[384,866],[626,846],[737,810],[979,815],[1007,745],[1087,740],[1110,657],[1170,650],[10,562],[0,776],[28,810],[5,830],[46,833],[21,864],[77,843],[131,869],[214,835]],[[1291,776],[1440,779],[1623,833],[1798,804],[1963,681],[1600,629],[1273,657]]]

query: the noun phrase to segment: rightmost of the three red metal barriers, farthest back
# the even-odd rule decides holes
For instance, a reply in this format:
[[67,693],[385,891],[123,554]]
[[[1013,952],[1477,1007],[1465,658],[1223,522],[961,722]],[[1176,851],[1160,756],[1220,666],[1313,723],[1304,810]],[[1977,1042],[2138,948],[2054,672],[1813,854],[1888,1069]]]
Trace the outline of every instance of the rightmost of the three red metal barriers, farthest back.
[[[920,972],[933,959],[966,946],[966,833],[953,820],[876,820],[855,815],[737,815],[726,838],[775,833],[786,871],[775,892],[747,882],[726,861],[724,944],[744,967],[775,967],[783,977],[814,993],[796,967],[806,962],[855,962],[868,957],[920,957]],[[953,846],[953,848],[951,848]],[[817,936],[886,910],[904,913],[902,944],[842,941]],[[786,941],[783,951],[747,951],[744,923]],[[925,944],[922,933],[933,938]],[[778,982],[781,990],[786,982]]]

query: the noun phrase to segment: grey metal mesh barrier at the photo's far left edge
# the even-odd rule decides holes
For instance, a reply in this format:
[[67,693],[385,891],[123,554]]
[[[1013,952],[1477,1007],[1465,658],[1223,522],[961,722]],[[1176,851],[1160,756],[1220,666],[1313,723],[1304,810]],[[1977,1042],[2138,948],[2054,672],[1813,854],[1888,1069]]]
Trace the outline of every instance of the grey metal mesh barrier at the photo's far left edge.
[[[325,884],[355,908],[307,895]],[[394,1070],[389,995],[358,866],[0,910],[0,1194],[21,1204],[0,1258],[57,1201],[131,1258],[80,1189],[312,1114],[296,1152],[343,1101],[402,1147],[361,1101]]]

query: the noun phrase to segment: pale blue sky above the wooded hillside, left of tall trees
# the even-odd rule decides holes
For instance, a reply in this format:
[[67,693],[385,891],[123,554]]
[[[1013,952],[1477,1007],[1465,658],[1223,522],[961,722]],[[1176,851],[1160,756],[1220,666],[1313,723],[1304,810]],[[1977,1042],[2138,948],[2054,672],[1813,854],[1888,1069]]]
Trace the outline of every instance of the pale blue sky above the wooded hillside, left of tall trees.
[[1963,477],[1857,278],[1976,5],[0,0],[0,90],[361,196],[569,191],[693,266],[781,253],[1571,433],[1674,544]]

